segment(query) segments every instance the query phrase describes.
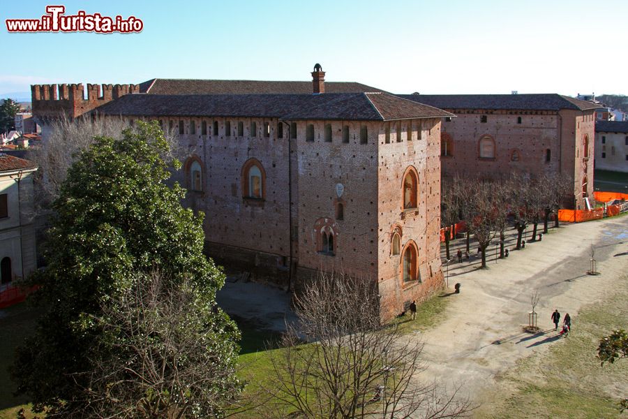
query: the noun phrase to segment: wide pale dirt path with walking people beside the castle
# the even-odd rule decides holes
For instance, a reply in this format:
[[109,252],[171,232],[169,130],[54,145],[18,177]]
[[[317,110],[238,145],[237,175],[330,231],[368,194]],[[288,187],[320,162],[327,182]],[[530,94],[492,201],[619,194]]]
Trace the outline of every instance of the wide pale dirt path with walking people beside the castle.
[[[586,274],[592,244],[598,276]],[[451,256],[463,245],[464,240],[456,240]],[[551,323],[553,309],[569,313],[577,328],[578,310],[613,292],[628,267],[628,216],[563,226],[541,242],[511,251],[507,259],[489,260],[488,270],[478,266],[479,260],[472,259],[449,267],[450,288],[461,282],[461,293],[447,297],[452,301],[442,323],[417,335],[424,341],[422,358],[428,365],[422,377],[462,384],[472,399],[516,360],[543,353],[559,339]],[[541,295],[536,311],[544,331],[536,336],[521,330],[528,324],[533,290]]]

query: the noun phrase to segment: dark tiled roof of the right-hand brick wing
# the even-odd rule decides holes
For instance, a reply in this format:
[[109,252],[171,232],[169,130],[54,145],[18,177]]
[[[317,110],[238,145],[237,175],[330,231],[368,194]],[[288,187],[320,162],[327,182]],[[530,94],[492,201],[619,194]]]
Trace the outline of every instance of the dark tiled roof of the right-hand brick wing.
[[560,94],[401,94],[436,108],[491,110],[590,110],[601,106]]

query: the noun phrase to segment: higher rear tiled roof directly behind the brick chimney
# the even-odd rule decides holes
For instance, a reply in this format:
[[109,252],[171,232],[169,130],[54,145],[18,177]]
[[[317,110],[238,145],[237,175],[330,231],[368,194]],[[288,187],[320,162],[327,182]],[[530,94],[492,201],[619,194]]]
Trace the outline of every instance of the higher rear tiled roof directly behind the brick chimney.
[[[355,82],[325,82],[326,93],[382,91]],[[312,82],[264,80],[182,80],[151,79],[140,83],[140,92],[149,94],[311,94]]]

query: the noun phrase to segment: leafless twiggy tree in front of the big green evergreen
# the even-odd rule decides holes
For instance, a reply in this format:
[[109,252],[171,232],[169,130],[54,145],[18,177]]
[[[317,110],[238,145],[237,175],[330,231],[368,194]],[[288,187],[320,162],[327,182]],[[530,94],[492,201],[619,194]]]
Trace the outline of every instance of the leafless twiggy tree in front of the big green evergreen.
[[[190,282],[137,274],[134,286],[85,319],[103,330],[94,369],[74,374],[87,385],[64,418],[215,418],[237,399],[241,383],[228,355],[235,330],[215,330],[222,312],[197,299]],[[70,409],[71,406],[71,409]],[[48,417],[56,417],[54,415]]]

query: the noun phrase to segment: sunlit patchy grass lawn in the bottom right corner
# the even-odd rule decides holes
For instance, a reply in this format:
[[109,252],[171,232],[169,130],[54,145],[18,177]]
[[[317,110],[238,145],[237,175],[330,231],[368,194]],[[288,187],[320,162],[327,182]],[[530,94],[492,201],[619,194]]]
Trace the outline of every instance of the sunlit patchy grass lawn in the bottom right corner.
[[525,358],[498,379],[495,400],[476,418],[627,418],[618,409],[628,395],[628,359],[601,367],[599,338],[628,325],[628,277],[604,302],[572,319],[569,337],[544,357]]

